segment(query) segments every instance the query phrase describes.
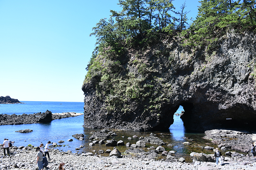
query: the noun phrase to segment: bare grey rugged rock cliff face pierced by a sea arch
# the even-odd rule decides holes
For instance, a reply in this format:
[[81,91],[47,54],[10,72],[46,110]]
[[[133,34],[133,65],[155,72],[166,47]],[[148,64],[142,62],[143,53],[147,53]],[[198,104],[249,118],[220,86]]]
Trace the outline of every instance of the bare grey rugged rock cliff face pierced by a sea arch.
[[109,111],[106,101],[111,104],[110,99],[122,99],[125,94],[112,94],[110,98],[99,91],[99,82],[91,79],[84,83],[84,126],[168,130],[181,105],[186,129],[255,129],[255,39],[254,33],[229,32],[211,55],[205,49],[184,48],[179,39],[144,50],[129,49],[119,76],[125,79],[133,74],[141,80],[137,85],[143,92]]

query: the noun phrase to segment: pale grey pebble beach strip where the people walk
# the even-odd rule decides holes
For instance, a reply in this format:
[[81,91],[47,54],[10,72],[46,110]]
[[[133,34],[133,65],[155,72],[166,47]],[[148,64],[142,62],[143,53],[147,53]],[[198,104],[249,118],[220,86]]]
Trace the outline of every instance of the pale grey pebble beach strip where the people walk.
[[[3,150],[1,150],[3,153]],[[0,159],[0,169],[13,169],[13,170],[35,170],[36,164],[36,150],[19,150],[16,149],[14,154]],[[256,170],[256,160],[252,156],[246,155],[244,157],[230,157],[224,162],[223,166],[216,166],[213,162],[165,162],[164,160],[139,160],[132,155],[122,155],[121,158],[116,156],[102,157],[94,154],[92,156],[85,156],[85,154],[60,152],[58,149],[51,150],[51,160],[47,169],[57,170],[61,162],[66,165],[66,170],[112,170],[112,169],[152,169],[152,170],[226,170],[226,169],[244,169]],[[45,169],[45,168],[44,168]]]

